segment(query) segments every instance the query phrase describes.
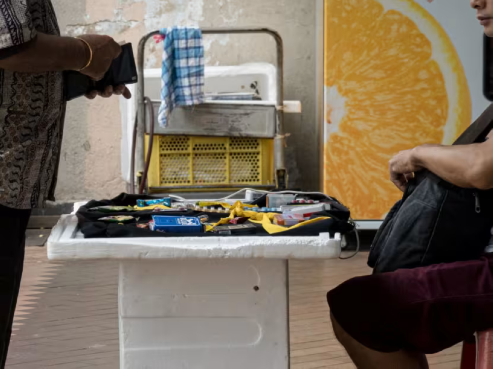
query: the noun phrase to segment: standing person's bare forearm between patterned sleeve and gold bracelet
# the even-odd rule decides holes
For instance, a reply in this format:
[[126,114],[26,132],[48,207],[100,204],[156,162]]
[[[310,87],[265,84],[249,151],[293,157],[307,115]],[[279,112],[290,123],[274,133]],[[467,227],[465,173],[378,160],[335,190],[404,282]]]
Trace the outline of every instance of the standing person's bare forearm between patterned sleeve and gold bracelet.
[[24,50],[0,60],[0,68],[29,73],[76,70],[88,60],[89,50],[83,41],[39,33]]

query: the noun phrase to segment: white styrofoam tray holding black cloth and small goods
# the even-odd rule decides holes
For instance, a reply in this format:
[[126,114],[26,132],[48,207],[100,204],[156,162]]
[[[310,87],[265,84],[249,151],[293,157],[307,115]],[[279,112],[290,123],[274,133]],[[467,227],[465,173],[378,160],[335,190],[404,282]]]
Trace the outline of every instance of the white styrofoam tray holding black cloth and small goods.
[[75,215],[63,215],[47,240],[48,259],[331,259],[341,235],[83,238]]

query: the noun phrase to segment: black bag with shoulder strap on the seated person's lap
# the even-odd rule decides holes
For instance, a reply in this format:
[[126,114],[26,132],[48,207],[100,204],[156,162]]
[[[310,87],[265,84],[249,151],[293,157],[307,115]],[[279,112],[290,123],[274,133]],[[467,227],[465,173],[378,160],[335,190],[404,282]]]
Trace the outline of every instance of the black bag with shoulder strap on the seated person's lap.
[[[454,145],[483,142],[493,104]],[[493,152],[492,152],[493,155]],[[374,273],[477,259],[493,227],[493,190],[459,188],[427,170],[416,173],[388,212],[368,258]]]

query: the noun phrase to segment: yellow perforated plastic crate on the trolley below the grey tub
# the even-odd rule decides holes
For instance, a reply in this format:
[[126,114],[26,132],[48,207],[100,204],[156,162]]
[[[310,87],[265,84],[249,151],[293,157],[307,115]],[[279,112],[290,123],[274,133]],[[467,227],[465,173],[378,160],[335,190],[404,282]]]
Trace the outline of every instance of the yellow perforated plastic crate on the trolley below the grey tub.
[[[147,152],[149,136],[146,135]],[[225,189],[273,185],[273,140],[251,137],[155,135],[149,188]],[[195,188],[192,188],[195,187]]]

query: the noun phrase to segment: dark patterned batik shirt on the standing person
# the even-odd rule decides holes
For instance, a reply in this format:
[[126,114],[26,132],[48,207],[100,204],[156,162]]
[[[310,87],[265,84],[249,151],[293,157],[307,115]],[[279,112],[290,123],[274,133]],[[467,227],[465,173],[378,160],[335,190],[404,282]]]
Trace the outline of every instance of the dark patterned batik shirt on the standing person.
[[[60,35],[50,0],[0,0],[0,58],[37,33]],[[61,72],[0,69],[0,204],[17,209],[54,200],[65,116]]]

